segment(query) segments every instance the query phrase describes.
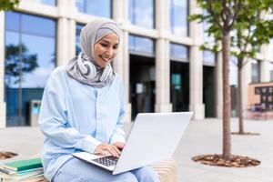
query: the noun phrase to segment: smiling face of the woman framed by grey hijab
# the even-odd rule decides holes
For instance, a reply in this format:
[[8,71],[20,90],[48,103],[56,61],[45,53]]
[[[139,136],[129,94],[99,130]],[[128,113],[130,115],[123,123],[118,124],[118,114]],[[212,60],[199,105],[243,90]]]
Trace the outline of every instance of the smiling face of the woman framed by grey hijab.
[[105,35],[94,45],[93,56],[98,66],[107,66],[116,56],[119,44],[118,36],[115,33]]

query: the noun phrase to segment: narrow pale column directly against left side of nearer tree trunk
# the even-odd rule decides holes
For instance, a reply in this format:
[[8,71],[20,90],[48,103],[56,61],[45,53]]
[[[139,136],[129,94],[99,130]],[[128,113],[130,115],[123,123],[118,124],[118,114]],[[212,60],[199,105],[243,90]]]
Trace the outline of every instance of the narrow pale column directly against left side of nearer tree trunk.
[[[217,118],[223,117],[223,59],[222,53],[217,53],[216,66],[216,111]],[[247,95],[247,94],[246,94]]]

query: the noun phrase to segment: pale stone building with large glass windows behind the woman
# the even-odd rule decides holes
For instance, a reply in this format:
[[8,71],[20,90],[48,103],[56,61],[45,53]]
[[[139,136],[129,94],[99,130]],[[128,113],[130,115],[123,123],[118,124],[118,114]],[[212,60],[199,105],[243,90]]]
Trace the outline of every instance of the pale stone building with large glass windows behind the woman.
[[[154,111],[221,117],[221,54],[200,51],[206,25],[187,20],[200,12],[196,0],[22,0],[15,11],[0,12],[0,127],[29,125],[37,116],[47,77],[76,55],[80,29],[96,16],[122,29],[113,66],[126,86],[126,121]],[[244,67],[243,93],[251,82],[273,80],[269,49],[262,46]],[[247,109],[247,94],[243,100]]]

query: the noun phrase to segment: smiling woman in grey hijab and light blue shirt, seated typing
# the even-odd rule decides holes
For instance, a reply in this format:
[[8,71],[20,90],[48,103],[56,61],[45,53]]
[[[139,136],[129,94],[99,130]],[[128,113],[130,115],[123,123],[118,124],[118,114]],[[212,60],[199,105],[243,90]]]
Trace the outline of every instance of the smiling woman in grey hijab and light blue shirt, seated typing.
[[45,177],[56,182],[158,182],[150,167],[114,176],[71,156],[86,151],[118,157],[125,145],[123,83],[110,66],[120,31],[113,21],[96,19],[80,38],[82,53],[57,67],[45,86],[39,116]]

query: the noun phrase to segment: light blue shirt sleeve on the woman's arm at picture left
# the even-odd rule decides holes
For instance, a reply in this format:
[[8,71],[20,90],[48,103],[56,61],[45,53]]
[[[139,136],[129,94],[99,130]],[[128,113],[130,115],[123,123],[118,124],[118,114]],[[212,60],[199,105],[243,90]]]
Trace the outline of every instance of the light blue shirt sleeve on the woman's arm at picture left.
[[48,79],[41,104],[39,126],[45,137],[56,146],[94,153],[101,142],[93,136],[80,134],[67,122],[64,84],[58,76],[50,76]]

